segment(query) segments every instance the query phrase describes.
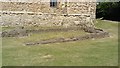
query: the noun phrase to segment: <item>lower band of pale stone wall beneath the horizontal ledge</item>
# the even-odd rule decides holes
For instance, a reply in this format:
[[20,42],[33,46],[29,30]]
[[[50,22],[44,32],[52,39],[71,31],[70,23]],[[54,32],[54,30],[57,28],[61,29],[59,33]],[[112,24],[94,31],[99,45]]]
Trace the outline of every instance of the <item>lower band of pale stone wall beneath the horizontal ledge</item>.
[[[91,20],[92,21],[92,20]],[[90,15],[57,15],[36,13],[3,13],[1,25],[3,26],[92,26]]]

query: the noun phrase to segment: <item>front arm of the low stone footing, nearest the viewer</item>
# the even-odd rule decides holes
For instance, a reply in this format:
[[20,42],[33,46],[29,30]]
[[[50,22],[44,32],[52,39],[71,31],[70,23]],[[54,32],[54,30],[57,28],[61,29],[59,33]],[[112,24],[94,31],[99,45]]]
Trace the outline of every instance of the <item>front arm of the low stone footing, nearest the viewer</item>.
[[61,43],[61,42],[70,42],[70,41],[78,41],[78,40],[81,41],[81,40],[87,40],[87,39],[93,39],[93,38],[105,38],[105,37],[109,37],[109,33],[100,31],[99,33],[91,33],[91,34],[80,36],[80,37],[50,39],[50,40],[43,40],[40,42],[32,42],[32,43],[25,43],[25,44],[27,46],[30,46],[30,45]]

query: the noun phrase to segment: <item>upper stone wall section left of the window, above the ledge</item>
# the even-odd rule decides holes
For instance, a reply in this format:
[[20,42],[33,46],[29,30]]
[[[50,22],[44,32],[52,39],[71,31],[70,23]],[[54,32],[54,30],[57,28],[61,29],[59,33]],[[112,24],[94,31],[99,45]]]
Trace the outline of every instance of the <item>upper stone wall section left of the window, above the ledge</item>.
[[26,2],[1,2],[2,11],[26,11],[42,13],[62,13],[61,3],[56,8],[51,8],[49,2],[26,3]]

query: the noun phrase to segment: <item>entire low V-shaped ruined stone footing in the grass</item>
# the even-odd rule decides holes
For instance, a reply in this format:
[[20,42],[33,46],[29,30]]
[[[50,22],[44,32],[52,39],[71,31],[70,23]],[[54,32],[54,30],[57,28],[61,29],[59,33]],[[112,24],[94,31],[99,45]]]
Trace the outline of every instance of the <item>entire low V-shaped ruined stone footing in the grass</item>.
[[103,31],[102,29],[92,28],[92,27],[69,27],[69,28],[57,28],[57,29],[39,29],[39,30],[26,30],[24,27],[19,29],[14,29],[10,31],[3,31],[2,37],[23,37],[28,36],[32,33],[43,33],[43,32],[55,32],[55,31],[69,31],[69,30],[83,30],[89,34],[84,36],[74,36],[69,38],[54,38],[48,40],[40,40],[38,42],[25,42],[25,45],[38,45],[38,44],[50,44],[50,43],[61,43],[61,42],[70,42],[70,41],[82,41],[87,39],[95,39],[95,38],[105,38],[109,37],[109,33]]

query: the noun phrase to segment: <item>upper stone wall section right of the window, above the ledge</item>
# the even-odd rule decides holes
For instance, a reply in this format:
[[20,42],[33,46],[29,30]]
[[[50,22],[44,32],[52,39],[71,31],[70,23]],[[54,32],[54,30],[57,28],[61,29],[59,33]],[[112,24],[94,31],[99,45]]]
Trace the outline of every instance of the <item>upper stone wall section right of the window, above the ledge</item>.
[[95,2],[75,2],[68,3],[68,14],[90,14],[95,15],[96,3]]

